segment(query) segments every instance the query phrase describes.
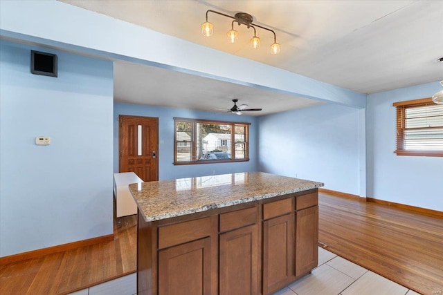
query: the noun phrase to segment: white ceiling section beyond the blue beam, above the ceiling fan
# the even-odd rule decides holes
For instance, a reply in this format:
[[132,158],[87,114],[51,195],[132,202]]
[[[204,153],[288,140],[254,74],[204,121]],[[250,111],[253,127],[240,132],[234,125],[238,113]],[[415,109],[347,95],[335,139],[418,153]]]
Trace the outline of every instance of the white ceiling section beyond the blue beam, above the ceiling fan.
[[262,108],[260,112],[244,115],[267,115],[285,109],[321,104],[314,99],[140,64],[116,63],[114,81],[116,101],[152,106],[226,113],[234,105],[232,99],[239,99],[238,106],[247,104],[248,108]]

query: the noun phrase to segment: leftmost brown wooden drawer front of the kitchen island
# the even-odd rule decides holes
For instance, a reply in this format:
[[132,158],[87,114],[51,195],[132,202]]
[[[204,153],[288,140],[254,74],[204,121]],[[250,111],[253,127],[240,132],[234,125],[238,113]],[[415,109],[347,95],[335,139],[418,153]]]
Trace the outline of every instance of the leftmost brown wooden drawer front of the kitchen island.
[[210,217],[159,227],[159,249],[210,236]]

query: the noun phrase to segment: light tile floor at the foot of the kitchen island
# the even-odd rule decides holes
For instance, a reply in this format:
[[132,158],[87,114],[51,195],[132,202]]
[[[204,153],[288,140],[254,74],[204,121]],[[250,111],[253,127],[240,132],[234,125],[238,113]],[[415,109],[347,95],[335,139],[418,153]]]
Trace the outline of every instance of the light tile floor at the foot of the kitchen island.
[[[130,274],[71,293],[71,295],[135,295],[136,274]],[[406,287],[383,278],[349,260],[318,247],[318,267],[312,274],[274,295],[415,295]]]

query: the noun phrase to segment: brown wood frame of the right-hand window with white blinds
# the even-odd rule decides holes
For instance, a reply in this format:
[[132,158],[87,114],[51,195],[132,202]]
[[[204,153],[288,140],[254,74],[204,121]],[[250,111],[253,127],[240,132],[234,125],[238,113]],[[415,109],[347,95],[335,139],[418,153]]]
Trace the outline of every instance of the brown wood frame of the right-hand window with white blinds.
[[[392,106],[397,108],[396,116],[396,149],[394,153],[397,155],[416,155],[416,156],[428,156],[428,157],[443,157],[442,150],[405,150],[404,149],[404,131],[406,131],[406,108],[413,108],[417,106],[431,106],[434,102],[431,97],[422,99],[413,99],[404,102],[394,102]],[[437,104],[435,104],[437,105]],[[438,128],[438,127],[437,127]]]

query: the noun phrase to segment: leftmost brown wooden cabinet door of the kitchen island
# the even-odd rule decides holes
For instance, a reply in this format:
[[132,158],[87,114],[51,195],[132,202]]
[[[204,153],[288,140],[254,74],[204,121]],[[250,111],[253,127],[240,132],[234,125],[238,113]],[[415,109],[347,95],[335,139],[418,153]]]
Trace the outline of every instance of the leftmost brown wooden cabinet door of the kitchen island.
[[159,295],[210,294],[210,238],[159,251]]

